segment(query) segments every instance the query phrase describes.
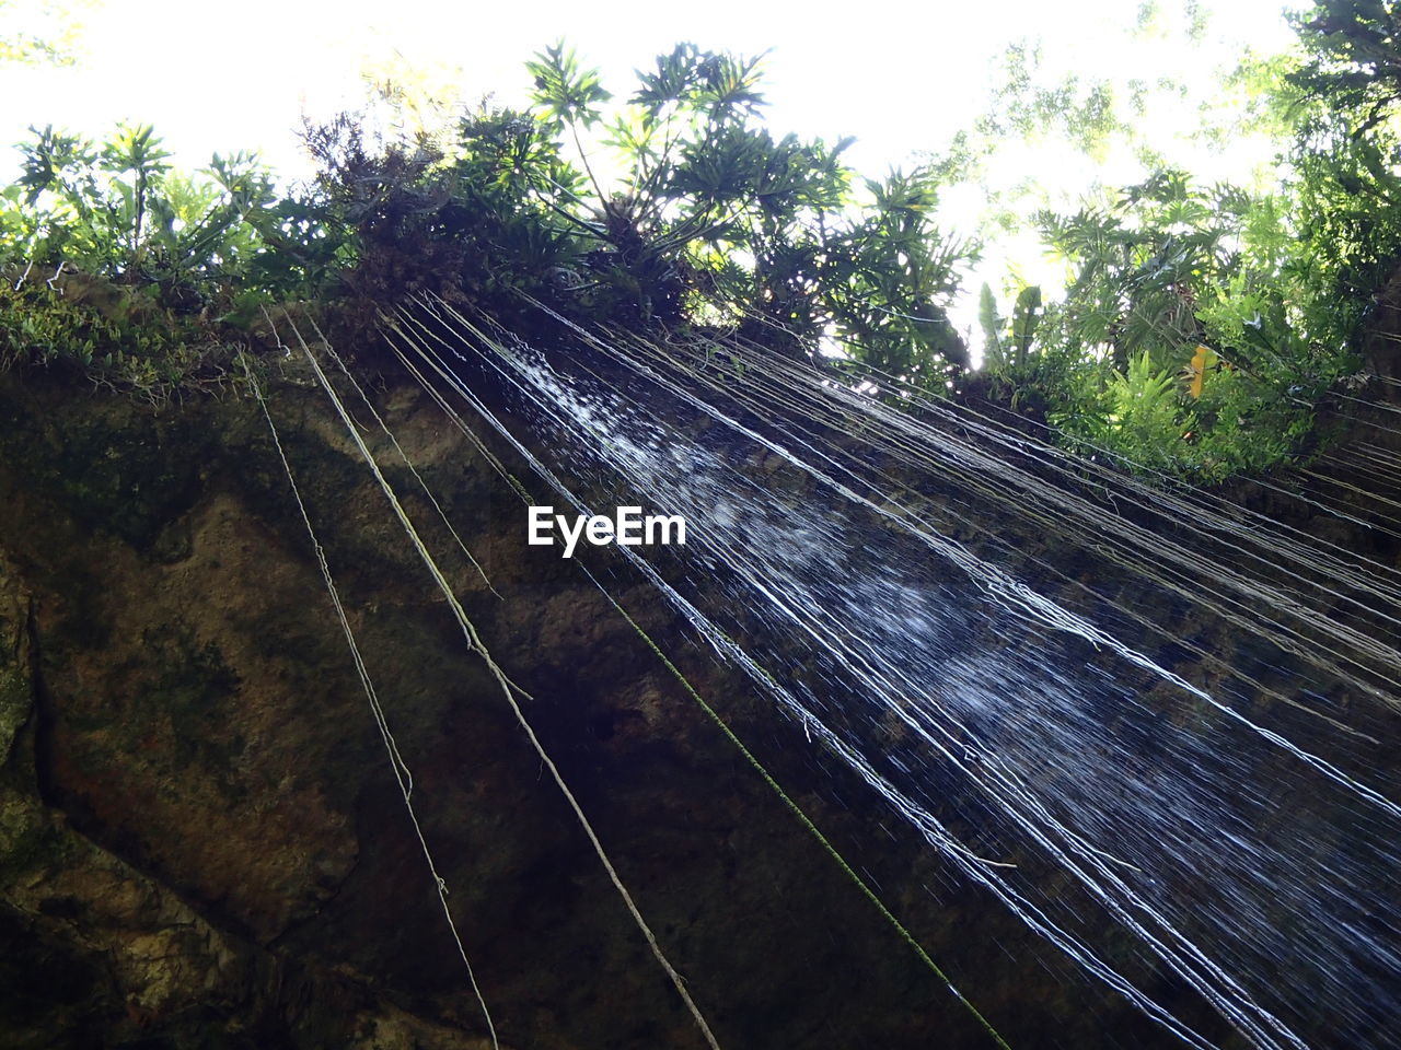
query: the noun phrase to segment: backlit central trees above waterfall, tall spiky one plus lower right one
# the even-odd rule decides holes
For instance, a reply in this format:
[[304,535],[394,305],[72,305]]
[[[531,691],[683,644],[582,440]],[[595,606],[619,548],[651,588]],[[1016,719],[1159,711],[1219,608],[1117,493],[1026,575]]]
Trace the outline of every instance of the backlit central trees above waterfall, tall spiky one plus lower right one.
[[860,207],[841,162],[850,140],[775,139],[758,123],[761,60],[682,43],[608,123],[622,175],[605,189],[583,146],[611,99],[597,71],[562,45],[528,69],[532,116],[567,137],[583,172],[532,189],[595,245],[581,283],[612,286],[621,314],[762,318],[808,344],[831,332],[916,382],[967,367],[947,305],[974,249],[932,223],[933,165],[864,181]]

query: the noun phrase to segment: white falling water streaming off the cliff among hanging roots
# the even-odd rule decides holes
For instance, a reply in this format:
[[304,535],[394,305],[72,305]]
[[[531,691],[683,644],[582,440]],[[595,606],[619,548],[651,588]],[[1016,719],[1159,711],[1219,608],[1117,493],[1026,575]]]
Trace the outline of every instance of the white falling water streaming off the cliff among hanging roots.
[[[920,449],[934,487],[971,477],[948,503],[969,521],[1034,510],[979,505],[979,484],[1005,486],[978,480],[988,461],[947,423],[901,413],[897,434],[828,381],[747,378],[738,350],[546,351],[440,305],[389,339],[558,512],[682,515],[684,547],[618,547],[628,571],[951,869],[1182,1042],[1212,1044],[1145,959],[1252,1046],[1401,1046],[1401,791],[1379,743],[1401,728],[1401,654],[1376,599],[1393,581],[1320,554],[1332,603],[1381,617],[1351,634],[1288,594],[1252,610],[1203,582],[1237,631],[1257,616],[1272,638],[1205,687],[1160,658],[1142,610],[1091,622],[993,557],[995,538],[975,547],[883,491],[885,440]],[[869,440],[836,426],[863,416]],[[1339,690],[1351,703],[1327,700]]]

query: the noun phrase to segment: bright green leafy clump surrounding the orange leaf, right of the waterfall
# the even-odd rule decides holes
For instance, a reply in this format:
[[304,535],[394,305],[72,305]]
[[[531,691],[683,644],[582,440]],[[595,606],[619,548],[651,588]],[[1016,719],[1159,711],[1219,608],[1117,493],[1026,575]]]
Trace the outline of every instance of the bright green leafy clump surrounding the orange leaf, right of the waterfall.
[[[1040,290],[1023,290],[1010,325],[988,293],[991,396],[1153,475],[1222,480],[1300,451],[1311,403],[1353,358],[1285,202],[1160,171],[1104,206],[1038,218],[1073,280],[1041,312]],[[1216,364],[1198,398],[1199,347]]]

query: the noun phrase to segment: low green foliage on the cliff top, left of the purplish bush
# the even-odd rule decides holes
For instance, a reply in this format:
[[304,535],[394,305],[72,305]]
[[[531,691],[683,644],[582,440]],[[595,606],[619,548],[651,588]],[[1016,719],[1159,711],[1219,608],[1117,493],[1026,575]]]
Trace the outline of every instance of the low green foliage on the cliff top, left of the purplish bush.
[[171,169],[150,127],[31,129],[0,192],[0,367],[69,365],[160,400],[216,382],[262,302],[324,280],[324,228],[254,157]]

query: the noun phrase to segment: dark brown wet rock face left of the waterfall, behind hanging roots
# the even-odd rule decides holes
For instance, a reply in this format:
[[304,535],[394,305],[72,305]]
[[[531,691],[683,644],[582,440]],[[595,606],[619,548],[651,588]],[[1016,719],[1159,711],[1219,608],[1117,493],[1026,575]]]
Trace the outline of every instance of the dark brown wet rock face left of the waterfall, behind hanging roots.
[[[377,448],[408,512],[722,1044],[989,1044],[469,442],[380,400],[490,587]],[[331,409],[296,375],[269,402],[502,1044],[702,1046]],[[256,405],[10,375],[0,413],[0,1044],[489,1046]],[[1168,1044],[618,596],[1013,1046]]]

